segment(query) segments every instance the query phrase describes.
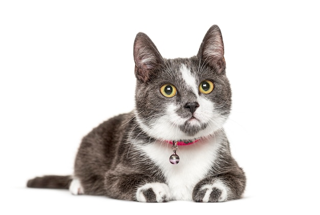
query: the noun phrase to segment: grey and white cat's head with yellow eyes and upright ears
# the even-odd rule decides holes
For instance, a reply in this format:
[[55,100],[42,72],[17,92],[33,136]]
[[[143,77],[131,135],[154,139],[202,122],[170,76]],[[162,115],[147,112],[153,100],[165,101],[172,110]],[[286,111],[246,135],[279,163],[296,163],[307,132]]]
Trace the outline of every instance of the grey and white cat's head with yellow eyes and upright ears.
[[150,137],[191,140],[220,130],[231,109],[218,26],[205,34],[196,56],[165,59],[151,39],[134,41],[136,119]]

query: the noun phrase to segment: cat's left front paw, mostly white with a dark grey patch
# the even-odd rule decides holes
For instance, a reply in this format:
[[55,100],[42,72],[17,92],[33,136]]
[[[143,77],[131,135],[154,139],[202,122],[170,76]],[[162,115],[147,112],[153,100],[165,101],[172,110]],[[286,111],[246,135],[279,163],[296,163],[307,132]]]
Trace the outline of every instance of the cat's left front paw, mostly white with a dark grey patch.
[[170,200],[170,190],[164,183],[148,183],[136,191],[139,202],[167,202]]

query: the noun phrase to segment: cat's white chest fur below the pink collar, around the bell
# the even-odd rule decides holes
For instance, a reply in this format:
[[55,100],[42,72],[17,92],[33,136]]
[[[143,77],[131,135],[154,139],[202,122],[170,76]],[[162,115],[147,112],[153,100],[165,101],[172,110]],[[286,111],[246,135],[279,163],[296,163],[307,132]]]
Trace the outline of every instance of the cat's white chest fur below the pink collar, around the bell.
[[161,168],[171,192],[172,200],[192,200],[194,186],[208,173],[216,159],[220,146],[219,138],[200,140],[192,145],[178,146],[178,164],[169,161],[172,145],[158,142],[141,149]]

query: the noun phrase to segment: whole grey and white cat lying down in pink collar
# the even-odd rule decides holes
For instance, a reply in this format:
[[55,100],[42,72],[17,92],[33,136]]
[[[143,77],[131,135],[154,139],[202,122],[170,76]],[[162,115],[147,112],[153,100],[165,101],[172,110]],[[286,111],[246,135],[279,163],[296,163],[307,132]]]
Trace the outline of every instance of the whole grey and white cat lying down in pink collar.
[[223,55],[216,25],[191,58],[163,58],[138,33],[135,109],[83,138],[73,176],[36,177],[27,186],[139,202],[241,198],[246,177],[223,130],[232,105]]

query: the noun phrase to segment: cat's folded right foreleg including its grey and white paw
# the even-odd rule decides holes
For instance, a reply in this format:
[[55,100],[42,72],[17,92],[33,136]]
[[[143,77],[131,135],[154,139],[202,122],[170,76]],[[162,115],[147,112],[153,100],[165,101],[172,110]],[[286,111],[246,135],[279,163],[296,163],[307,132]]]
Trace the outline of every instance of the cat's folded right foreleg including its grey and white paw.
[[195,202],[225,202],[239,199],[245,187],[245,179],[233,176],[207,177],[193,189]]

